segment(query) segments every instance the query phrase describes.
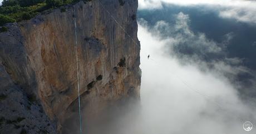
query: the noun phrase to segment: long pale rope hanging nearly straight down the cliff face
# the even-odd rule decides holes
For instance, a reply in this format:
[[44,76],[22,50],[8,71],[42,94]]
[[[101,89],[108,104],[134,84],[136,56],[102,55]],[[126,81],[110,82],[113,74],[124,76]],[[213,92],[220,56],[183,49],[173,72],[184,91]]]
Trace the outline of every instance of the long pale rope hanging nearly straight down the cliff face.
[[74,8],[74,24],[75,24],[75,45],[76,45],[76,73],[77,73],[77,90],[78,90],[78,111],[80,121],[80,134],[82,134],[82,117],[81,117],[81,105],[80,105],[80,84],[79,84],[79,68],[78,68],[78,47],[77,47],[77,27],[76,27],[76,9]]

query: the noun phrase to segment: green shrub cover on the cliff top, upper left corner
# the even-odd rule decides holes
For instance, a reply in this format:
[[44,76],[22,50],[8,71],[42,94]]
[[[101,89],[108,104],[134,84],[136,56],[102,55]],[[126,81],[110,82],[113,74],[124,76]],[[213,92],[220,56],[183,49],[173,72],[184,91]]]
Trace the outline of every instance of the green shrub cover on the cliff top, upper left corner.
[[[0,26],[35,17],[47,9],[58,8],[80,0],[3,0],[0,6]],[[83,0],[91,1],[91,0]],[[62,12],[64,10],[62,9]]]

